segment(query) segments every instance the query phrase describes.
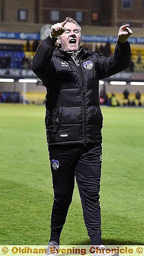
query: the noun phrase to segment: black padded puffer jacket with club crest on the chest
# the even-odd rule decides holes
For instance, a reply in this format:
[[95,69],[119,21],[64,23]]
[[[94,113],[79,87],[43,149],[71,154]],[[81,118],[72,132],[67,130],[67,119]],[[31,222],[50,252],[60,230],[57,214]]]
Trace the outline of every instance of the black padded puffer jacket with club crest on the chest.
[[129,66],[130,44],[117,42],[111,57],[81,48],[77,66],[69,53],[54,51],[55,41],[45,39],[32,61],[32,70],[47,89],[47,144],[101,143],[99,80]]

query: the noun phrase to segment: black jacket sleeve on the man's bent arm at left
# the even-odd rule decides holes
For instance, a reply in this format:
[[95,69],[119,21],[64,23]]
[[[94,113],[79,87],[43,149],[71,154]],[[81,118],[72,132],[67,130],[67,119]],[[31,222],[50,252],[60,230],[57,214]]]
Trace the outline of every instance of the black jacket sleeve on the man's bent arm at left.
[[57,39],[48,36],[41,44],[39,44],[36,54],[32,60],[32,70],[42,80],[43,84],[54,73],[55,67],[52,61],[55,42]]

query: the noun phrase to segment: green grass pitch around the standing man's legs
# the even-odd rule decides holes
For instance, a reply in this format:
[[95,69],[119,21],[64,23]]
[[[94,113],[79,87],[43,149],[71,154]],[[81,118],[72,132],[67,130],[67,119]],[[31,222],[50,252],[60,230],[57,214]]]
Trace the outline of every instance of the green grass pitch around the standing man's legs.
[[[102,108],[104,244],[144,244],[144,109]],[[44,106],[0,105],[0,243],[47,244],[53,201]],[[89,244],[77,185],[61,244]]]

